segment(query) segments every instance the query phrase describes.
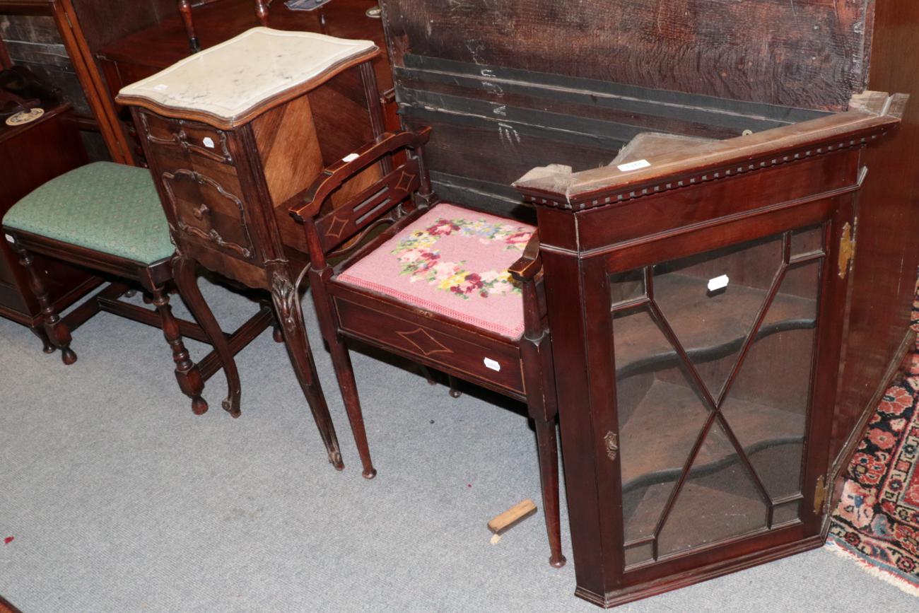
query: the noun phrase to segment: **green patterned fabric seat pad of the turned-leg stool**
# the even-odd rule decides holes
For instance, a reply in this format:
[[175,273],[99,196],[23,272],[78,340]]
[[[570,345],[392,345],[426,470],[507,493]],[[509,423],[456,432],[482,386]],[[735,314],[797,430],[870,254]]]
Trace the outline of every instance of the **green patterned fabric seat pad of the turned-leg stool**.
[[13,205],[3,224],[142,264],[175,251],[150,171],[111,162],[51,179]]

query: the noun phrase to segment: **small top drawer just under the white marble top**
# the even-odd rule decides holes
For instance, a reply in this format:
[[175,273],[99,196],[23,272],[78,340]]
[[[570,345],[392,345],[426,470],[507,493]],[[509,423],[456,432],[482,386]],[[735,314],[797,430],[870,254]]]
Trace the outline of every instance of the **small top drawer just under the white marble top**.
[[140,112],[147,141],[168,153],[188,153],[219,164],[233,165],[227,133],[207,124],[185,119],[166,119]]

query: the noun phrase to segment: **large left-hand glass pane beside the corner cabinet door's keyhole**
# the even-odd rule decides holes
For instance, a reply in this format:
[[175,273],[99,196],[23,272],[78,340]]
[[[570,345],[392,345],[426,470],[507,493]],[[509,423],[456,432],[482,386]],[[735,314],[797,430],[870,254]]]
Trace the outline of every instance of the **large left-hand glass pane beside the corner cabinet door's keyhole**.
[[654,534],[709,409],[646,307],[618,312],[613,338],[623,522],[629,542]]

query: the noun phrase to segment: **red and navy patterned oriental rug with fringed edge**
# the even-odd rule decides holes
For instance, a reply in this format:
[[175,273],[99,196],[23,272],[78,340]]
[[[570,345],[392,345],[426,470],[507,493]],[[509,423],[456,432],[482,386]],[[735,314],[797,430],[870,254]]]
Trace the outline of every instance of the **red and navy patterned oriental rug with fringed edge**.
[[[913,328],[919,326],[919,293]],[[849,465],[827,547],[919,596],[919,346],[884,394]]]

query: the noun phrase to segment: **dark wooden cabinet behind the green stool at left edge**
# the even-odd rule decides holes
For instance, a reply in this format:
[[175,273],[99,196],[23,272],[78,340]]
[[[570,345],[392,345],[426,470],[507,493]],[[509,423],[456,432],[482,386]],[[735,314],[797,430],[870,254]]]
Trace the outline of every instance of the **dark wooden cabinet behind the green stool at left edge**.
[[[51,108],[40,119],[16,128],[0,124],[0,218],[42,183],[85,164],[85,155],[69,105]],[[57,260],[36,256],[35,262],[57,312],[101,282]],[[0,315],[28,325],[43,338],[39,303],[6,240],[0,244]]]

